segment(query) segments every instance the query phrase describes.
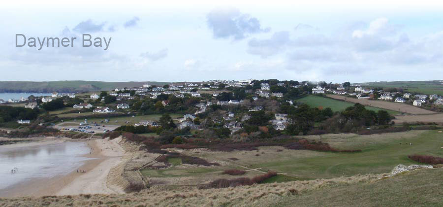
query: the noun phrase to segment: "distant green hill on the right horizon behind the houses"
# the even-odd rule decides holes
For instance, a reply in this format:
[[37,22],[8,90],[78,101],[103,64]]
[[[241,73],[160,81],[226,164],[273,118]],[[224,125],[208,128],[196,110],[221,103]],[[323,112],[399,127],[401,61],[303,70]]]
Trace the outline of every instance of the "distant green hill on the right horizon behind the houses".
[[426,81],[391,81],[391,82],[369,82],[355,83],[355,85],[367,87],[383,87],[383,88],[402,88],[409,93],[422,94],[439,94],[443,96],[442,80],[426,80]]

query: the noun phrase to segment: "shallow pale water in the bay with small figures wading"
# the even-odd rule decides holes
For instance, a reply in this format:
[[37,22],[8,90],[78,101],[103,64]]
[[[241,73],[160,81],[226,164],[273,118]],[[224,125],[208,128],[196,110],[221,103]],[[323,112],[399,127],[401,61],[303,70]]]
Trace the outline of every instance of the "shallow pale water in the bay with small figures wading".
[[[82,156],[90,152],[85,142],[17,146],[0,146],[0,197],[8,195],[14,185],[71,173],[91,159]],[[14,168],[17,171],[11,172]]]

